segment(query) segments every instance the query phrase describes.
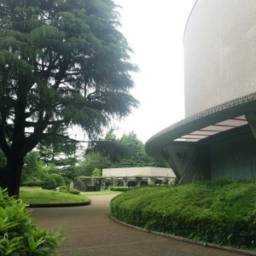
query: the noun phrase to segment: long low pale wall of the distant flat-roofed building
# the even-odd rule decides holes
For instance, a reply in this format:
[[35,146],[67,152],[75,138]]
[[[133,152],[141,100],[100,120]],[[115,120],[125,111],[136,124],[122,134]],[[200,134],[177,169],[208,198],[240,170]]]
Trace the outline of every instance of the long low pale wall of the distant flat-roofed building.
[[127,168],[108,168],[102,169],[102,176],[113,177],[132,177],[132,176],[169,176],[175,177],[171,168],[160,168],[152,166],[127,167]]

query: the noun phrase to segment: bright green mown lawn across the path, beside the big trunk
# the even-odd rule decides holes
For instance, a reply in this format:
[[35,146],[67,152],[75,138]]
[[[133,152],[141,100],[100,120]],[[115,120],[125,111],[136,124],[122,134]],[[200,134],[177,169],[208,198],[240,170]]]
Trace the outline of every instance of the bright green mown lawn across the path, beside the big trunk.
[[21,187],[20,199],[25,203],[63,203],[63,202],[80,202],[87,201],[87,195],[108,195],[116,194],[114,191],[97,191],[97,192],[82,192],[80,195],[72,195],[67,193],[56,192],[54,190],[39,189],[38,187]]

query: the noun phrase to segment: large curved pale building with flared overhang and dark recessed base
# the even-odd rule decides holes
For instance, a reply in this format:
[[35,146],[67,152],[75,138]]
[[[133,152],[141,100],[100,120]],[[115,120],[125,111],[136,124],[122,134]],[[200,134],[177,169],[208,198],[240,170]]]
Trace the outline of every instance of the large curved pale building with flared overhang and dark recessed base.
[[255,43],[256,1],[195,3],[183,41],[185,119],[146,143],[180,183],[256,177]]

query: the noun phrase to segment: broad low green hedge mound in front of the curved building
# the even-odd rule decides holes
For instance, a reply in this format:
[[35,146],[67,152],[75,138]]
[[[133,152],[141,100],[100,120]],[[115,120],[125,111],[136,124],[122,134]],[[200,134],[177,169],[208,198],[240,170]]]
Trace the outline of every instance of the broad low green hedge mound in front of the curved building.
[[148,230],[255,250],[256,181],[131,189],[113,198],[111,214]]

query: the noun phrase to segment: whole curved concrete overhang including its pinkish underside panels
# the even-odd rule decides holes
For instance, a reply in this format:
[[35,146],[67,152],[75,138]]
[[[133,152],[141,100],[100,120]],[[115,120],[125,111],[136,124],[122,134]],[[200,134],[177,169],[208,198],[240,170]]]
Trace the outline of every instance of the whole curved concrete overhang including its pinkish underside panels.
[[158,160],[164,160],[163,149],[167,145],[203,143],[207,138],[214,137],[221,132],[247,125],[245,114],[253,113],[255,110],[256,92],[208,108],[149,138],[145,145],[146,152]]

